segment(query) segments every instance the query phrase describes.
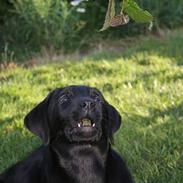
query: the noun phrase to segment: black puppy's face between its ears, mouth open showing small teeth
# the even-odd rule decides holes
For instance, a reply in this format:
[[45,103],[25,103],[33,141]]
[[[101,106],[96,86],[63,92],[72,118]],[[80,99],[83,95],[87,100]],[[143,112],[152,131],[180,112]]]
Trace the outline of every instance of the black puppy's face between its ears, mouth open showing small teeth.
[[70,141],[100,138],[103,102],[100,92],[93,88],[72,86],[60,93],[58,121]]

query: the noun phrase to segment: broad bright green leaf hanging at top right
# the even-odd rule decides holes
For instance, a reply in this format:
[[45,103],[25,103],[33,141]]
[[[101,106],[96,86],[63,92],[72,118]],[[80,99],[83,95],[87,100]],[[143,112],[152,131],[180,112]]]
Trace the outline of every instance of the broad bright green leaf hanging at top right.
[[146,23],[153,20],[153,16],[141,9],[133,0],[123,0],[123,11],[129,15],[137,23]]

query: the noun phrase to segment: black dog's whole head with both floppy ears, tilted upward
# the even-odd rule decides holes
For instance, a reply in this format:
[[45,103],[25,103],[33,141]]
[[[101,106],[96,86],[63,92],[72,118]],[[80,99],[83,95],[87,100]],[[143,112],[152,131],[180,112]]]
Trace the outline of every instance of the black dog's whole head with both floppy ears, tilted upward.
[[117,110],[87,86],[55,89],[25,117],[25,126],[45,144],[58,136],[70,142],[111,138],[120,124]]

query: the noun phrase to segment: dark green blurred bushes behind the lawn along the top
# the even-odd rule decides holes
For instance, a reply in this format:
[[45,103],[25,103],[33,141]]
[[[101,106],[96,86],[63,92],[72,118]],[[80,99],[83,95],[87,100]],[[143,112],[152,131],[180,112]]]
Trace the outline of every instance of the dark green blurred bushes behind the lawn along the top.
[[[41,50],[73,51],[86,48],[98,38],[118,39],[145,33],[148,24],[132,20],[125,26],[99,32],[107,11],[108,1],[83,1],[72,6],[70,0],[43,1],[36,5],[30,0],[0,0],[0,52],[24,60]],[[116,3],[121,1],[116,0]],[[154,29],[175,28],[183,24],[182,0],[139,0],[138,4],[154,16]],[[78,8],[85,9],[84,13]],[[118,11],[118,10],[117,10]],[[5,52],[5,53],[4,53]],[[0,55],[0,61],[7,61]]]

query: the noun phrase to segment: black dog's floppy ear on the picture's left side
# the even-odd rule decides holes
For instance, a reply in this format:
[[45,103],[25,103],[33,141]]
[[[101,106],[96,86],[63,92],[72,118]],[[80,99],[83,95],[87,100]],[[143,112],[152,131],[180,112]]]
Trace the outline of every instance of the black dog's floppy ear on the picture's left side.
[[39,136],[44,144],[49,144],[50,130],[48,125],[48,105],[51,94],[30,111],[24,119],[24,124],[35,135]]

